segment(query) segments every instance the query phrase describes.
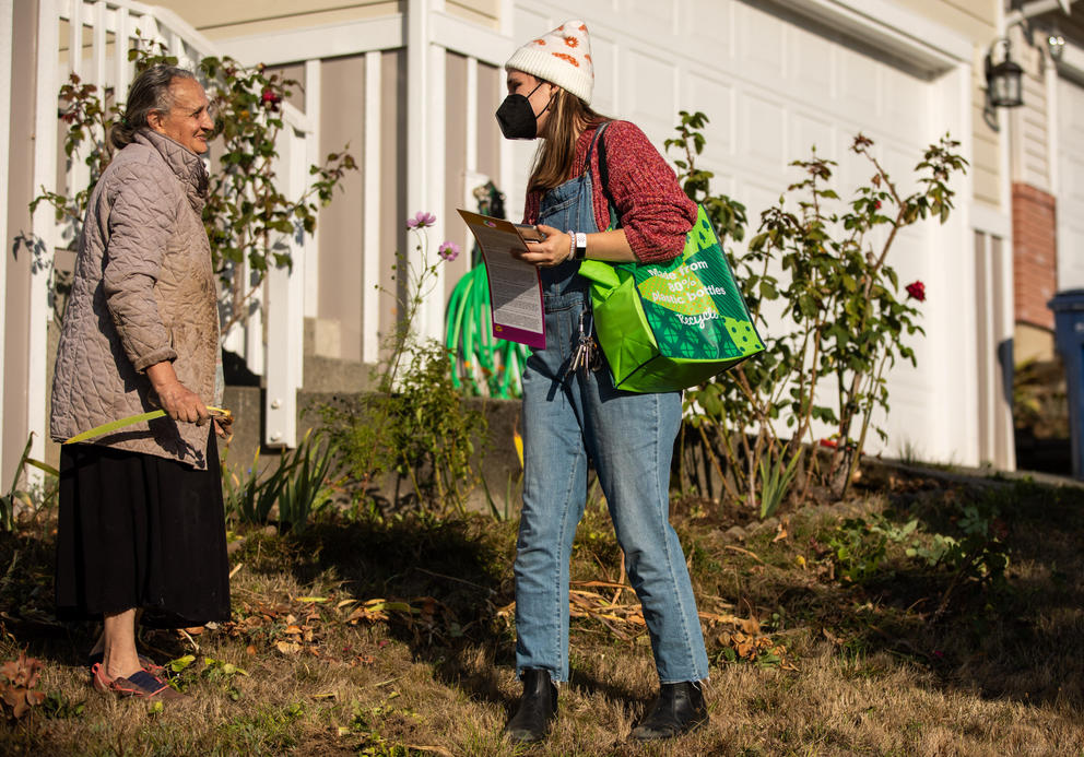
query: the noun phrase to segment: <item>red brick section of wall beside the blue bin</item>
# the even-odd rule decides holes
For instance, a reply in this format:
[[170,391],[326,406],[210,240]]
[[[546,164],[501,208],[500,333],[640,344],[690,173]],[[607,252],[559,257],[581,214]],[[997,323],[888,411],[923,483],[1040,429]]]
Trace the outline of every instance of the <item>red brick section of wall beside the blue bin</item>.
[[1016,322],[1053,329],[1047,303],[1058,288],[1054,198],[1013,184],[1013,294]]

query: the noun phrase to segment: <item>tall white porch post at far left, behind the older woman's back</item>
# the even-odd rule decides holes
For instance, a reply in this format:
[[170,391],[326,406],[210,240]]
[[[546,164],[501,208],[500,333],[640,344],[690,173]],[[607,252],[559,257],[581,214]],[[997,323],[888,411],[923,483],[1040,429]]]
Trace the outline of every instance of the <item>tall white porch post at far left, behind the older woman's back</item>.
[[[59,9],[56,0],[39,0],[37,20],[37,82],[34,116],[34,189],[56,187],[57,182],[57,51],[60,46]],[[10,26],[9,26],[10,28]],[[49,280],[56,255],[57,223],[52,208],[40,203],[32,218],[34,235],[40,240],[43,259],[32,267],[30,354],[27,355],[27,429],[34,435],[31,454],[45,454],[46,335],[49,329]]]

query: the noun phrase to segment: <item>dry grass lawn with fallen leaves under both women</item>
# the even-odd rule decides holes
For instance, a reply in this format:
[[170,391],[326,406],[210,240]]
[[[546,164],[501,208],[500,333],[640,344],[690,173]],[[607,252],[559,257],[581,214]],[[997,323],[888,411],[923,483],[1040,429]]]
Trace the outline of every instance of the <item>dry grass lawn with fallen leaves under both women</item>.
[[[735,513],[675,510],[712,658],[709,726],[627,741],[655,673],[629,591],[605,586],[620,554],[592,506],[573,681],[550,741],[519,754],[1084,755],[1084,489],[895,475],[738,541]],[[992,513],[1003,581],[907,554],[974,512]],[[51,622],[50,525],[24,527],[0,540],[0,657],[43,660],[49,699],[0,728],[0,753],[517,754],[500,737],[518,696],[514,548],[515,523],[482,516],[254,530],[233,556],[231,624],[144,635],[161,660],[195,658],[174,676],[191,703],[154,712],[89,687],[94,629]]]

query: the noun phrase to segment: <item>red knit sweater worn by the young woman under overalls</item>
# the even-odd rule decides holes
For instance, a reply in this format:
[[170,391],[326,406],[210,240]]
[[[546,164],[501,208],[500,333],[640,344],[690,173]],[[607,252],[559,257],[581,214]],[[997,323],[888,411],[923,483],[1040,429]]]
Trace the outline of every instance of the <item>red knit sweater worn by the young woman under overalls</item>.
[[[594,132],[594,127],[587,129],[576,142],[573,176],[584,173],[584,162]],[[696,203],[682,191],[673,169],[635,123],[611,121],[603,139],[606,143],[610,193],[628,246],[640,262],[663,262],[676,258],[685,248],[685,234],[696,223]],[[594,221],[600,229],[605,229],[610,225],[610,212],[598,177],[599,145],[596,144],[591,154]],[[528,192],[525,223],[538,223],[541,200],[541,192]]]

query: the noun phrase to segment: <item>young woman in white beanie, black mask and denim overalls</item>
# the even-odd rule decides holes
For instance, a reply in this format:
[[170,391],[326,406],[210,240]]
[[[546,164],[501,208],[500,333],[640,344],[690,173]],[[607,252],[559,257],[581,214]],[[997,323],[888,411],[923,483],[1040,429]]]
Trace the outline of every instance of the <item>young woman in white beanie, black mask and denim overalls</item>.
[[[594,74],[581,22],[568,21],[529,42],[505,69],[508,97],[497,121],[508,139],[542,140],[525,222],[546,235],[521,256],[541,269],[546,346],[531,355],[523,374],[526,475],[515,566],[516,669],[523,696],[506,733],[516,742],[543,738],[556,717],[554,683],[568,679],[568,565],[590,461],[644,606],[661,683],[632,735],[665,738],[708,718],[702,691],[708,660],[685,558],[669,521],[681,393],[614,389],[593,340],[588,281],[578,269],[585,258],[673,259],[684,249],[696,205],[636,126],[589,107]],[[599,179],[603,141],[608,187]]]

